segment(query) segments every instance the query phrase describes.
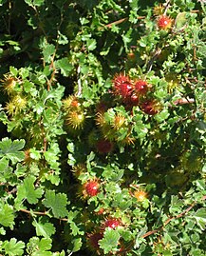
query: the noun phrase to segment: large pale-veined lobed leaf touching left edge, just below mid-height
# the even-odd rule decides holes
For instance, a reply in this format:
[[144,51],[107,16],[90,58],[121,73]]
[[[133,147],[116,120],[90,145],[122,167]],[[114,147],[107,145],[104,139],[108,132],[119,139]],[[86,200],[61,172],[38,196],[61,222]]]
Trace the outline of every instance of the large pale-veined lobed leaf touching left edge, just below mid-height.
[[20,149],[25,147],[25,140],[11,141],[9,138],[4,138],[0,142],[0,157],[6,156],[12,164],[23,161],[25,154]]

